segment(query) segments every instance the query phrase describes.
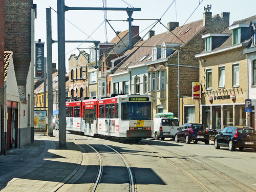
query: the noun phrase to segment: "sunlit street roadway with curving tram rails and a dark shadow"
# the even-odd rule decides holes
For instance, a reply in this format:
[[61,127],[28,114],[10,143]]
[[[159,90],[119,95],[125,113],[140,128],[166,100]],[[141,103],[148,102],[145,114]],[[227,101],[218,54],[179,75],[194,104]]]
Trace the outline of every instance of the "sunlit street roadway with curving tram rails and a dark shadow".
[[[55,133],[54,133],[55,134]],[[57,135],[57,132],[56,134]],[[73,183],[58,191],[92,190],[102,159],[102,176],[96,191],[130,191],[130,178],[123,160],[130,164],[135,191],[256,191],[256,152],[216,150],[214,145],[175,143],[166,139],[143,139],[140,143],[120,143],[102,138],[69,134],[67,140],[86,151],[87,168]],[[103,145],[105,144],[105,145]]]

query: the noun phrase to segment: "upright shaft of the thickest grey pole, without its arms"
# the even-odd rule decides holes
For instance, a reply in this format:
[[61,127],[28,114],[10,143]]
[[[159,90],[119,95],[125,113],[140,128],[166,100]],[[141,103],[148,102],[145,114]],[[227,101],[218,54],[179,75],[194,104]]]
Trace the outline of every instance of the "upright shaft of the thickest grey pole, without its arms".
[[65,0],[57,1],[57,12],[59,70],[59,147],[66,148]]

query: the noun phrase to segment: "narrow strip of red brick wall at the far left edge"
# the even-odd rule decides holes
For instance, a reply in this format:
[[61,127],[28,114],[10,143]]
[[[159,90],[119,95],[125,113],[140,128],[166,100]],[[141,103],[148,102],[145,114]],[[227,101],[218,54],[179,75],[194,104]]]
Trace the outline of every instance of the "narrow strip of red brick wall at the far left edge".
[[1,124],[0,124],[0,132],[1,132],[1,153],[4,154],[4,46],[5,46],[5,20],[4,20],[4,0],[0,0],[0,106],[1,106]]

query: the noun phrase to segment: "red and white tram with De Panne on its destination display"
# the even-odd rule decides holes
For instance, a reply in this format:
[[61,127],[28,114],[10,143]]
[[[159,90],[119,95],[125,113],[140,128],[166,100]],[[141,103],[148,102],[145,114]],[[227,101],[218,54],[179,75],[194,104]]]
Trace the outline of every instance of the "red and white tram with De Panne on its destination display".
[[[73,111],[72,111],[73,110]],[[66,102],[67,131],[119,140],[150,138],[153,130],[150,95],[118,95]]]

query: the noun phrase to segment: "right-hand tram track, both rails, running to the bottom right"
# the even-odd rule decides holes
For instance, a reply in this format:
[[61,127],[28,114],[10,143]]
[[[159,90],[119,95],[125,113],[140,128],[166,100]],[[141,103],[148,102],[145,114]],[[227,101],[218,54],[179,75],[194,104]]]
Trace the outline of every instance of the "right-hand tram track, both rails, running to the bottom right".
[[[182,159],[186,160],[186,161],[189,161],[191,163],[195,163],[203,168],[205,168],[206,170],[208,170],[209,172],[215,174],[216,176],[228,181],[229,183],[231,183],[232,185],[238,187],[240,190],[244,191],[244,192],[251,192],[253,190],[249,189],[248,187],[242,185],[241,183],[229,178],[228,176],[226,176],[225,174],[223,173],[220,173],[218,172],[218,170],[215,170],[213,169],[212,167],[209,167],[203,163],[200,163],[198,161],[195,161],[193,159],[190,159],[190,158],[187,158],[187,157],[184,157],[183,155],[179,154],[179,153],[176,153],[176,152],[173,152],[173,151],[170,151],[170,150],[166,150],[166,149],[163,149],[163,148],[159,148],[159,147],[156,147],[156,146],[153,146],[153,145],[150,145],[150,144],[147,144],[147,143],[144,143],[144,142],[139,142],[143,145],[148,145],[148,146],[151,146],[151,147],[154,147],[154,148],[157,148],[158,150],[162,150],[162,151],[166,151],[168,153],[173,153],[179,157],[181,157]],[[176,163],[170,161],[169,159],[167,159],[166,157],[162,156],[162,155],[159,155],[157,154],[156,152],[153,152],[151,150],[148,150],[147,148],[144,148],[144,147],[141,147],[141,146],[138,146],[136,145],[137,147],[141,148],[142,150],[146,150],[156,156],[159,156],[161,158],[163,158],[164,160],[166,160],[167,162],[169,162],[170,164],[172,164],[174,167],[180,169],[187,177],[189,177],[191,180],[193,180],[197,185],[199,185],[200,188],[202,188],[204,191],[211,191],[209,188],[207,188],[203,183],[201,183],[197,178],[195,178],[193,175],[189,174],[186,170],[184,170],[183,168],[181,168],[179,165],[177,165]]]

